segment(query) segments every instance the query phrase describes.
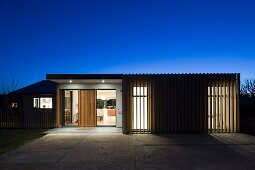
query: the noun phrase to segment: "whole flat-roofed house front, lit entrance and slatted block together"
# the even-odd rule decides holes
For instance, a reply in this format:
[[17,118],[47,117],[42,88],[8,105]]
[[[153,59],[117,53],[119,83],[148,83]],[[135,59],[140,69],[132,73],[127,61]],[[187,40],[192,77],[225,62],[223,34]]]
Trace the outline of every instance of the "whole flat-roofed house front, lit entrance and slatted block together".
[[240,131],[240,74],[47,74],[46,79],[57,83],[57,127]]

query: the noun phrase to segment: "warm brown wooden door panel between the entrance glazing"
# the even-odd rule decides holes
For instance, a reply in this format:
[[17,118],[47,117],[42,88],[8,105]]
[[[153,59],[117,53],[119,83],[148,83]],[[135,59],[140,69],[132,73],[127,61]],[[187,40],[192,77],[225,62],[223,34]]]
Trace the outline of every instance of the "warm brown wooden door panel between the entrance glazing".
[[96,91],[79,90],[79,126],[96,126]]

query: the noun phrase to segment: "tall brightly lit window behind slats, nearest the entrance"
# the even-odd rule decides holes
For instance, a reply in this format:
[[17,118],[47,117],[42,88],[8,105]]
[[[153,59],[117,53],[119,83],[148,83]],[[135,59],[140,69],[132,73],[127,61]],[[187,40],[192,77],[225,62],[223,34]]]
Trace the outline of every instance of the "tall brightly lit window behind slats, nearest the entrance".
[[147,87],[133,87],[133,129],[147,130]]

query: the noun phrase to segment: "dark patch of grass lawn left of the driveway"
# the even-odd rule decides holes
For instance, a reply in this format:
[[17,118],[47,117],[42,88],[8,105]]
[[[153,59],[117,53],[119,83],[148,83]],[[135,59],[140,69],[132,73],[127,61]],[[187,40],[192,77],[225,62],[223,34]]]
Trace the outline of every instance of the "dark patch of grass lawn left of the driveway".
[[43,136],[46,129],[0,129],[0,154]]

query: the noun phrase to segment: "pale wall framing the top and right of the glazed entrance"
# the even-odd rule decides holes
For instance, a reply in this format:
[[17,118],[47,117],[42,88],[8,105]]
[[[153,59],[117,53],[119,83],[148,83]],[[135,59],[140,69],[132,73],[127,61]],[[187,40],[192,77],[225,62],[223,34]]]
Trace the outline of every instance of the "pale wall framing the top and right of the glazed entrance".
[[122,127],[122,84],[115,83],[115,84],[59,84],[59,89],[66,89],[66,90],[79,90],[79,89],[115,89],[116,90],[116,127]]

